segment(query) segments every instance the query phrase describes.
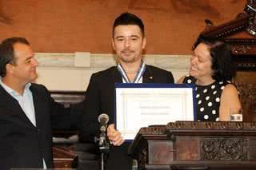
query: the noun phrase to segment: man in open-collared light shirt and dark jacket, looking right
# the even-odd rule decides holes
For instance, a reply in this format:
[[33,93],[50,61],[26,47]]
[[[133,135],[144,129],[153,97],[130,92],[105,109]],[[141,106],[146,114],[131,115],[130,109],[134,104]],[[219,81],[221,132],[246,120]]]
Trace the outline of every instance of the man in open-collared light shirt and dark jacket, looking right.
[[50,117],[65,112],[37,77],[38,61],[25,38],[0,44],[0,169],[53,168]]

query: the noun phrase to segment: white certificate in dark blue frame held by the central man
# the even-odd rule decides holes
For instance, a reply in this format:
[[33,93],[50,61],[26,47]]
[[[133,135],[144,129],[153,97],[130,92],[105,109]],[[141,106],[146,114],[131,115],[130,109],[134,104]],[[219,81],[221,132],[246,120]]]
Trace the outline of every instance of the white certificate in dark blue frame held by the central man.
[[115,84],[116,128],[125,140],[149,125],[196,120],[194,85]]

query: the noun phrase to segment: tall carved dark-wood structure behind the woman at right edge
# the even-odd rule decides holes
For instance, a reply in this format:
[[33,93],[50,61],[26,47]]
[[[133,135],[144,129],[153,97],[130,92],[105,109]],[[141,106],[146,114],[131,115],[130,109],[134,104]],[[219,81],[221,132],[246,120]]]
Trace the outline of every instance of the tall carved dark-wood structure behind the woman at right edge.
[[247,0],[244,13],[230,22],[220,26],[207,24],[201,36],[230,45],[238,69],[234,83],[241,92],[243,121],[256,121],[256,0]]

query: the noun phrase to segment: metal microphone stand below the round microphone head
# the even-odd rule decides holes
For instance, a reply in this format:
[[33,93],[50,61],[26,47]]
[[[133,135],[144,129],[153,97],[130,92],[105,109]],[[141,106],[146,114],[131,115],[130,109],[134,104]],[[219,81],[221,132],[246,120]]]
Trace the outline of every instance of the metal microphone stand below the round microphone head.
[[101,134],[95,137],[95,143],[98,142],[99,152],[101,153],[101,170],[104,170],[106,154],[110,152],[110,143],[106,137],[106,125],[102,125],[100,131]]

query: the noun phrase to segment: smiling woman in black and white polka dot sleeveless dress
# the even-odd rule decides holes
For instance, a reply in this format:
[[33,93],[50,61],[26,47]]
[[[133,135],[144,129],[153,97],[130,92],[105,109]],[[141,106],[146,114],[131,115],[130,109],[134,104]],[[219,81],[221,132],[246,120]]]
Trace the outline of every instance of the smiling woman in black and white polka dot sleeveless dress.
[[197,121],[229,121],[230,109],[240,109],[230,47],[224,42],[198,38],[190,58],[190,74],[178,83],[195,85]]

